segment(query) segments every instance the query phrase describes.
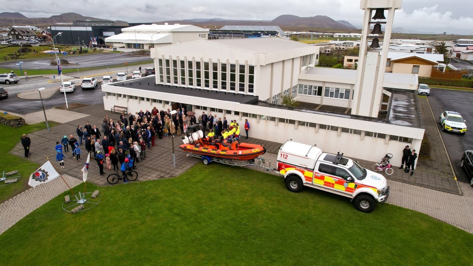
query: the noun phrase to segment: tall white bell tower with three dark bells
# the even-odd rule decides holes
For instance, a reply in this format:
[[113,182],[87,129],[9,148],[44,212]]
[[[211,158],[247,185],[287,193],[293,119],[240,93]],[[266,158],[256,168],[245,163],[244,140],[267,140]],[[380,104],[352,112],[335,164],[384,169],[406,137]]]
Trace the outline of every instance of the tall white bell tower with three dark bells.
[[[394,10],[401,9],[402,0],[360,0],[360,9],[365,10],[363,27],[361,29],[361,43],[357,80],[353,92],[351,114],[377,117],[383,96],[383,81],[391,30],[393,28]],[[387,17],[385,13],[387,11]],[[370,25],[373,31],[370,33]],[[381,25],[385,24],[385,34]],[[377,34],[370,36],[370,34]],[[383,50],[380,53],[379,38],[383,38]],[[368,39],[371,48],[368,51]]]

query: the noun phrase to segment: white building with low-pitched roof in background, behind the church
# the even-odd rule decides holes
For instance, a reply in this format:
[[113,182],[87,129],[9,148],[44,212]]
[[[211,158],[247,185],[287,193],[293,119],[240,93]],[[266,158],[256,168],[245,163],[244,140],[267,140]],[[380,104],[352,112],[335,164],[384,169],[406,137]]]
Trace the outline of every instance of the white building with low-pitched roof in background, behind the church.
[[150,49],[166,45],[207,39],[208,29],[193,25],[139,25],[122,29],[121,34],[105,38],[114,47]]

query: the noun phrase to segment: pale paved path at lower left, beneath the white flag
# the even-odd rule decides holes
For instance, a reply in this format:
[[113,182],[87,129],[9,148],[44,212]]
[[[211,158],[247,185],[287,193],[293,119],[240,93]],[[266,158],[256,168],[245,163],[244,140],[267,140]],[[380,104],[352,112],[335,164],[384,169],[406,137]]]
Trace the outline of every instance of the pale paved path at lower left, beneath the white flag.
[[[71,188],[79,185],[82,181],[68,175],[63,175],[62,177]],[[16,197],[5,201],[0,205],[0,234],[35,209],[68,189],[61,177],[58,177],[53,181],[28,189]],[[61,206],[58,206],[58,210],[60,209]]]

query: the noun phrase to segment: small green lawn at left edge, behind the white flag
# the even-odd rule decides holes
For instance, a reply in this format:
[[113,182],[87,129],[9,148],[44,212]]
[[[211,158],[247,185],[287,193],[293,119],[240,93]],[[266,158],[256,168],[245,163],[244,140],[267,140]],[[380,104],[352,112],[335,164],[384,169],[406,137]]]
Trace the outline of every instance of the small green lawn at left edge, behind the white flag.
[[[49,126],[52,127],[53,122],[49,121]],[[20,141],[20,137],[23,134],[28,134],[30,132],[45,129],[46,123],[37,123],[33,125],[23,125],[19,128],[10,128],[9,126],[0,125],[0,175],[3,171],[11,172],[18,170],[21,174],[21,178],[16,183],[12,183],[6,186],[0,187],[0,203],[5,200],[16,196],[17,194],[23,192],[25,189],[28,189],[28,177],[31,173],[35,172],[41,165],[33,163],[24,157],[18,157],[12,154],[9,154],[9,151],[17,145]],[[40,150],[35,149],[36,143],[40,141],[38,139],[32,139],[31,142],[31,153],[41,153]],[[1,182],[0,185],[3,185],[4,182]]]

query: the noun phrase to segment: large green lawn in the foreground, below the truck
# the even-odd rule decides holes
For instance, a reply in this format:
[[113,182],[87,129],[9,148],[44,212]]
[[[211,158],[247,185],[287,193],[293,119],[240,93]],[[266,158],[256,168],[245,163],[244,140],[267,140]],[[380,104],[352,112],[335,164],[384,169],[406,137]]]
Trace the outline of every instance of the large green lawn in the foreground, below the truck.
[[100,190],[95,208],[66,213],[65,192],[1,234],[2,264],[471,264],[470,233],[394,205],[366,214],[344,197],[292,193],[251,169],[199,163],[177,178],[87,187]]

